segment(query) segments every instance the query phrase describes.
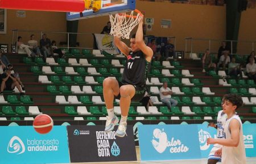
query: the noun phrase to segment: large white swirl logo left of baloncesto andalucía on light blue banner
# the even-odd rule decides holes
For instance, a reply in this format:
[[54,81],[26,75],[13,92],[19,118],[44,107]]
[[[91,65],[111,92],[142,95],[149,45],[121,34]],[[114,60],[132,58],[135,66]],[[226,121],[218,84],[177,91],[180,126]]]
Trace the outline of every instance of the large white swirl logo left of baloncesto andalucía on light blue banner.
[[13,136],[8,144],[7,152],[22,154],[25,152],[25,145],[19,137]]

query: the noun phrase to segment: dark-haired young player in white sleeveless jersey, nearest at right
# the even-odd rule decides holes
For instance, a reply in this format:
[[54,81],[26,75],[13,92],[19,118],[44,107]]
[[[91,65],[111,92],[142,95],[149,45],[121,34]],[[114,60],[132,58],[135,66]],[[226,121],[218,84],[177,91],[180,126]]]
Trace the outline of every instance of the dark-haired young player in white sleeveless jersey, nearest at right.
[[240,117],[236,110],[243,104],[241,96],[227,94],[222,105],[224,113],[228,116],[224,126],[224,139],[207,139],[207,144],[220,144],[222,146],[221,162],[223,164],[245,164],[245,145],[243,144],[243,130]]

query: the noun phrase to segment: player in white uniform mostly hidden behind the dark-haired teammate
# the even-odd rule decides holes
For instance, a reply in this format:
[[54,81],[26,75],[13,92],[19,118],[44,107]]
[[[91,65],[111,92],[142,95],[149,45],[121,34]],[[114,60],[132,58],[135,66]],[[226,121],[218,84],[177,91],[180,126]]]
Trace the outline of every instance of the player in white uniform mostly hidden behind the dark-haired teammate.
[[[222,104],[225,101],[225,96],[222,98]],[[217,124],[209,123],[208,126],[214,127],[217,129],[217,138],[222,139],[224,135],[224,125],[226,122],[227,115],[220,110],[217,116]],[[222,145],[214,144],[212,150],[210,150],[209,157],[208,157],[208,164],[216,164],[217,162],[221,162],[221,149]]]

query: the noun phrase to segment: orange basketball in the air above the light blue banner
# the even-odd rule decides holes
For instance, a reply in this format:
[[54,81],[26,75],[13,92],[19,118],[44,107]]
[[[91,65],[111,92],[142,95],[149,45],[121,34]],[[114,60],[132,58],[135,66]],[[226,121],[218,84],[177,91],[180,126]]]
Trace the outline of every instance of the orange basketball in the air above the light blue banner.
[[33,127],[40,134],[46,134],[52,130],[53,120],[47,114],[39,114],[35,117]]

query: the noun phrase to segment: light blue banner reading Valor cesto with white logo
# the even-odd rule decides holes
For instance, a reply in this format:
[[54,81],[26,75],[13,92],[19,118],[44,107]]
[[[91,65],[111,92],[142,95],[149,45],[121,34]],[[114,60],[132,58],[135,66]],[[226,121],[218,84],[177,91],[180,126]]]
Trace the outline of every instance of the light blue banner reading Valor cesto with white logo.
[[201,158],[196,124],[143,125],[138,130],[142,161]]

